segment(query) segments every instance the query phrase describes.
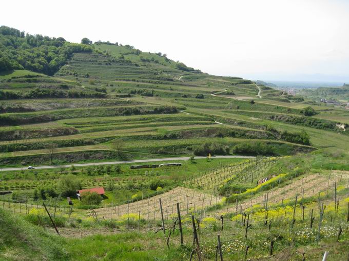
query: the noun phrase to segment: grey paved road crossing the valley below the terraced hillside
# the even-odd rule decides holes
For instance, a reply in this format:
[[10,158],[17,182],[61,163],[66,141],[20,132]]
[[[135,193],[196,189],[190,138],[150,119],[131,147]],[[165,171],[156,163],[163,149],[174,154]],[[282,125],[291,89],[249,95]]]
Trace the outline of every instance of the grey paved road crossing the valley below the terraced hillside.
[[[215,156],[212,159],[251,159],[255,157],[250,156]],[[144,162],[154,162],[154,161],[179,161],[179,160],[189,160],[190,157],[173,157],[173,158],[160,158],[160,159],[147,159],[147,160],[125,160],[125,161],[109,161],[109,162],[96,162],[96,163],[80,163],[80,164],[70,164],[70,165],[50,165],[50,166],[34,166],[35,169],[47,169],[47,168],[69,168],[72,165],[75,167],[83,166],[95,166],[95,165],[111,165],[111,164],[124,164],[124,163],[144,163]],[[195,157],[195,159],[206,159],[206,157]],[[26,167],[22,168],[0,168],[0,171],[9,171],[9,170],[25,170]]]

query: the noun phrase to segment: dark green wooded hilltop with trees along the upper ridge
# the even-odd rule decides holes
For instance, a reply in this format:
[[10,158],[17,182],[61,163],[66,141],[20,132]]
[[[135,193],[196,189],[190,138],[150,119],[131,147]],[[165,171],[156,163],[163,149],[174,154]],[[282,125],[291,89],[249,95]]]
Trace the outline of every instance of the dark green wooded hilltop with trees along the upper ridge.
[[[73,53],[99,53],[109,56],[110,51],[95,50],[92,41],[83,38],[81,44],[75,44],[66,41],[63,37],[50,38],[41,34],[26,34],[7,26],[0,27],[0,72],[10,70],[29,70],[47,75],[53,75],[57,72]],[[95,42],[95,45],[118,46],[118,43],[111,44],[109,41]],[[118,55],[118,61],[131,62],[128,56],[138,56],[138,61],[152,62],[156,64],[168,63],[166,66],[176,67],[178,70],[201,73],[200,70],[194,70],[187,67],[182,62],[174,62],[167,58],[166,54],[152,54],[151,57],[142,54],[139,49],[133,46],[120,45],[119,50],[124,50],[123,54]],[[125,55],[124,55],[125,54]],[[125,57],[126,56],[126,57]],[[153,57],[158,56],[158,57]],[[162,62],[164,61],[164,62]],[[173,66],[174,65],[174,66]]]

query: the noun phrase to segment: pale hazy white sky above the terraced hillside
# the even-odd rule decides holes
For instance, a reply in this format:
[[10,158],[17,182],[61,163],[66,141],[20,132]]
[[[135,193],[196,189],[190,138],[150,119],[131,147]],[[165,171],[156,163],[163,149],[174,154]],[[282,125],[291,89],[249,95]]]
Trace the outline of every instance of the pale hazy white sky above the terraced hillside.
[[216,75],[349,82],[349,1],[4,1],[0,25],[162,52]]

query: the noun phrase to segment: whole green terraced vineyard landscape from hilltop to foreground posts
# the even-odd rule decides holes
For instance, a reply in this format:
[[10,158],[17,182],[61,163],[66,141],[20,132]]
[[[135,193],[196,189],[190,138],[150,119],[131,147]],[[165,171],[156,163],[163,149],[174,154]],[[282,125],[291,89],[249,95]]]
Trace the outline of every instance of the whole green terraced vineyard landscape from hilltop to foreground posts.
[[83,42],[0,27],[0,259],[346,258],[344,106]]

